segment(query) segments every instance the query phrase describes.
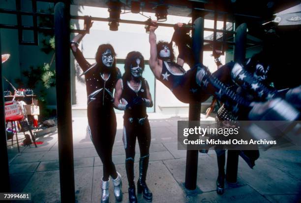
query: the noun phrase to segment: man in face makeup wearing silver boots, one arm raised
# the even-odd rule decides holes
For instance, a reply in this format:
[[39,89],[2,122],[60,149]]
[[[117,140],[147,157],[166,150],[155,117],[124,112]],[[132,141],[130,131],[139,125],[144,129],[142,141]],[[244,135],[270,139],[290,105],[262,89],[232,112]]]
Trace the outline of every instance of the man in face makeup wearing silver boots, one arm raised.
[[[92,26],[93,22],[89,25]],[[85,23],[85,26],[86,25]],[[114,194],[117,201],[122,200],[121,178],[112,161],[112,150],[116,135],[116,115],[113,107],[113,90],[121,77],[116,67],[115,51],[112,45],[102,44],[98,47],[95,60],[90,64],[78,49],[86,33],[80,33],[71,41],[71,50],[83,70],[88,95],[88,131],[92,143],[103,163],[101,183],[101,203],[109,202],[109,181],[113,179]],[[81,75],[81,76],[82,76]]]

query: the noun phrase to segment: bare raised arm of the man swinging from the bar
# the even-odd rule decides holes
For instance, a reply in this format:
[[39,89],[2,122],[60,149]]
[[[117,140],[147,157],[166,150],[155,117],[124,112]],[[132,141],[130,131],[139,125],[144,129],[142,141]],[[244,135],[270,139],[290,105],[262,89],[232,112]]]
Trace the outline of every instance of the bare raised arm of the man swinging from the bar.
[[156,22],[152,21],[152,25],[150,26],[150,36],[149,36],[149,41],[151,45],[150,67],[153,75],[156,78],[159,78],[161,74],[161,66],[159,65],[159,59],[157,57],[156,34],[154,33],[156,28],[157,28]]

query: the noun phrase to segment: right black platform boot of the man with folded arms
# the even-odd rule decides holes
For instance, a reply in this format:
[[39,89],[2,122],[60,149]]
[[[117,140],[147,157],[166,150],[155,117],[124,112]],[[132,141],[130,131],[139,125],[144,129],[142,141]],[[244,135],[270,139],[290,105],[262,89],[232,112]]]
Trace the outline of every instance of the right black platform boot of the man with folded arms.
[[147,171],[148,171],[148,166],[149,166],[149,157],[150,157],[149,154],[146,156],[140,157],[139,179],[137,182],[137,192],[143,193],[144,199],[148,202],[151,202],[152,201],[152,193],[145,182]]

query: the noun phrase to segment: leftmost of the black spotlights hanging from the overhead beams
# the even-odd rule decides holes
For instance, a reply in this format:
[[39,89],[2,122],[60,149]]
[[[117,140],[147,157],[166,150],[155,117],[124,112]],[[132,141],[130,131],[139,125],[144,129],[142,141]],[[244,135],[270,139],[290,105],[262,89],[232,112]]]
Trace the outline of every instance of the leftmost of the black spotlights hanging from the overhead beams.
[[108,11],[110,13],[109,26],[110,30],[117,31],[121,13],[121,2],[119,0],[110,0],[107,2]]

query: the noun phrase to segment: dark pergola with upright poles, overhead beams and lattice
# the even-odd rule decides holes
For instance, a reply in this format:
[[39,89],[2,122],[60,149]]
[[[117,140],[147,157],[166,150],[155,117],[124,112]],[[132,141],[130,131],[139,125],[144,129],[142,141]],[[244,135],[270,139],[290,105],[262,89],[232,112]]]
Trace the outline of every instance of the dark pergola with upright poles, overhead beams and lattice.
[[[71,74],[69,42],[70,32],[81,32],[81,30],[70,30],[70,19],[85,19],[84,16],[70,16],[70,2],[68,0],[56,0],[54,14],[40,13],[36,9],[37,1],[53,2],[51,0],[31,0],[32,12],[21,10],[21,0],[16,0],[16,9],[0,9],[0,13],[10,13],[17,15],[17,25],[0,24],[0,28],[17,29],[19,34],[19,44],[37,45],[38,32],[50,31],[55,33],[56,42],[56,84],[57,84],[57,112],[58,112],[58,136],[59,136],[59,159],[60,159],[60,194],[61,202],[75,202],[74,194],[74,168],[73,168],[73,144],[72,144],[72,119],[71,119]],[[93,21],[109,22],[111,30],[116,30],[116,24],[129,23],[138,25],[148,25],[148,21],[129,21],[118,17],[120,10],[131,10],[133,13],[153,12],[156,13],[158,21],[164,20],[164,16],[178,15],[192,18],[192,40],[193,54],[196,63],[202,63],[203,51],[216,49],[218,46],[225,51],[226,48],[234,46],[235,60],[241,60],[245,56],[245,44],[236,44],[236,38],[244,39],[243,33],[237,32],[235,27],[241,23],[247,23],[249,34],[260,39],[260,33],[252,31],[252,27],[258,27],[272,18],[271,11],[275,7],[290,6],[287,1],[279,0],[73,0],[72,4],[87,5],[96,7],[106,7],[110,12],[110,18],[92,17]],[[115,13],[114,13],[115,12]],[[33,16],[33,25],[22,25],[22,15]],[[117,15],[117,16],[116,16]],[[55,27],[39,27],[37,25],[38,16],[49,16],[54,19]],[[204,19],[214,20],[213,28],[204,28]],[[154,19],[155,20],[155,19]],[[217,21],[223,21],[223,28],[217,29]],[[231,29],[227,29],[226,22],[232,22]],[[159,23],[159,26],[173,26]],[[117,26],[118,29],[118,26]],[[32,42],[23,41],[23,30],[32,30],[34,40]],[[212,31],[213,36],[204,39],[204,30]],[[219,33],[219,34],[218,34]],[[205,46],[205,47],[204,47]],[[247,46],[254,46],[247,43]],[[1,70],[1,63],[0,63]],[[64,78],[61,80],[60,78]],[[0,71],[0,89],[3,91],[2,72]],[[3,94],[0,94],[0,134],[4,135],[5,118]],[[189,120],[200,120],[201,103],[191,102],[189,104]],[[0,138],[0,159],[2,166],[2,192],[10,192],[8,157],[6,147],[6,136]],[[187,151],[185,187],[193,190],[196,188],[198,166],[198,151]]]

